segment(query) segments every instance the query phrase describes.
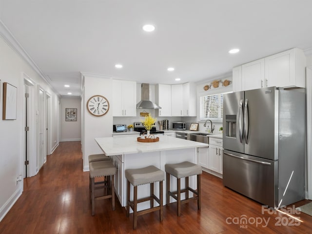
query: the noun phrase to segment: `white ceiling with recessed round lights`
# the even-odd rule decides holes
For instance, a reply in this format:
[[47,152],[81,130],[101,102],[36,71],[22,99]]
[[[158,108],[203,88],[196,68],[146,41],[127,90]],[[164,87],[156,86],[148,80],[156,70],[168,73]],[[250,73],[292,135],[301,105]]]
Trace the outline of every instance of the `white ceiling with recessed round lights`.
[[0,20],[62,96],[79,96],[80,72],[174,84],[307,50],[311,13],[312,0],[0,0]]

